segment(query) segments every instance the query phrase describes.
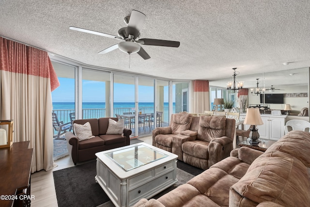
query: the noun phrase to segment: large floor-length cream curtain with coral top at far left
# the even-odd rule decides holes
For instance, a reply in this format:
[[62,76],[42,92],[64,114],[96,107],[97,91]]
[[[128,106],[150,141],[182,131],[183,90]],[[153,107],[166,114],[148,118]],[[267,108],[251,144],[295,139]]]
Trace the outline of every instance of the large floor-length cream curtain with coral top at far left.
[[14,142],[30,141],[31,173],[53,161],[51,91],[59,86],[47,52],[0,37],[0,119],[13,119]]

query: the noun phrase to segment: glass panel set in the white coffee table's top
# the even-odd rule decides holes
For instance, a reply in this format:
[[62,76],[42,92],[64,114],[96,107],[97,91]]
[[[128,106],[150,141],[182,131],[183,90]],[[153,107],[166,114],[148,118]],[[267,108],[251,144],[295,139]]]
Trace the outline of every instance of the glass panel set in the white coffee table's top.
[[105,155],[123,168],[124,171],[129,171],[156,160],[168,157],[168,155],[158,152],[143,144],[105,153]]

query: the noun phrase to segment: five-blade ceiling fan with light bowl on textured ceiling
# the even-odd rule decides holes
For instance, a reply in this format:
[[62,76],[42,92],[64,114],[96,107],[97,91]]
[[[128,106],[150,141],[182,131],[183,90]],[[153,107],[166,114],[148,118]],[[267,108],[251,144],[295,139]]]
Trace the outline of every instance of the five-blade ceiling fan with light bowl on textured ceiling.
[[101,35],[113,39],[120,40],[122,42],[113,45],[109,48],[106,48],[100,52],[99,54],[106,54],[114,49],[119,48],[121,51],[133,54],[138,53],[144,60],[151,58],[147,52],[140,46],[142,45],[154,45],[154,46],[164,46],[164,47],[173,47],[178,48],[180,46],[180,42],[170,41],[170,40],[159,40],[159,39],[148,39],[142,38],[140,39],[140,29],[144,22],[145,15],[137,10],[132,10],[130,16],[126,16],[124,18],[127,27],[123,27],[118,31],[118,36],[103,33],[103,32],[95,32],[92,30],[82,29],[78,27],[69,27],[71,30],[79,31],[79,32],[87,32],[91,34]]

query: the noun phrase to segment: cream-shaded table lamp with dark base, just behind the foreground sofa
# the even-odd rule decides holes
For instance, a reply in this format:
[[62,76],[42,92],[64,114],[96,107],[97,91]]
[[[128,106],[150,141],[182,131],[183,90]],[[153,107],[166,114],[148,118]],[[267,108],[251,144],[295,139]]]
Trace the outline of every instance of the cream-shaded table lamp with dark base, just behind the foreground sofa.
[[260,110],[256,108],[248,108],[246,118],[244,119],[243,124],[251,125],[250,126],[250,134],[249,138],[251,139],[251,144],[258,144],[260,141],[260,134],[258,133],[258,129],[255,127],[256,125],[263,125],[263,120],[261,118]]

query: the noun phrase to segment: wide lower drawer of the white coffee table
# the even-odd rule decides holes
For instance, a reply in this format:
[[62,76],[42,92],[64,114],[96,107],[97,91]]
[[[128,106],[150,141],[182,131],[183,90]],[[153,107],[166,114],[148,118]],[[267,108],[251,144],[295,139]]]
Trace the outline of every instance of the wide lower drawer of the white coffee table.
[[154,180],[152,180],[148,183],[145,183],[144,185],[141,185],[140,187],[138,187],[136,189],[129,191],[128,192],[129,206],[132,204],[135,204],[135,202],[139,201],[141,198],[149,197],[148,195],[152,194],[152,192],[158,193],[159,189],[162,189],[163,186],[165,186],[165,185],[168,186],[168,184],[173,182],[173,181],[174,181],[173,171],[171,171],[165,175],[162,175],[162,176],[155,178]]

